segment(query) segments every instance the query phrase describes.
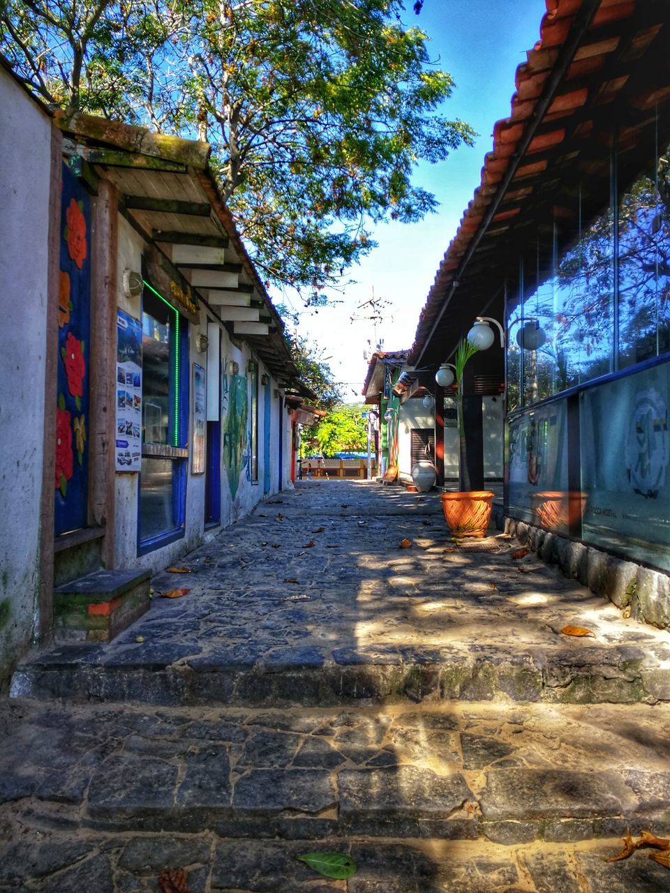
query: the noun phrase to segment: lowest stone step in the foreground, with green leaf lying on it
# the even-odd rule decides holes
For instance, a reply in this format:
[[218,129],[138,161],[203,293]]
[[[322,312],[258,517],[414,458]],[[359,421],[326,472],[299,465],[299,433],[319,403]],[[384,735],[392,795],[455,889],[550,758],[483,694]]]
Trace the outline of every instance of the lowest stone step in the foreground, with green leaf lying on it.
[[[34,830],[34,829],[33,829]],[[0,890],[35,893],[158,891],[163,872],[185,872],[191,893],[663,893],[668,870],[649,850],[607,863],[621,839],[502,847],[481,841],[252,840],[160,833],[40,829],[2,846]],[[328,880],[298,861],[312,852],[350,856],[356,873]],[[30,883],[30,886],[22,886]],[[178,889],[178,888],[172,888]],[[179,888],[180,889],[180,888]]]

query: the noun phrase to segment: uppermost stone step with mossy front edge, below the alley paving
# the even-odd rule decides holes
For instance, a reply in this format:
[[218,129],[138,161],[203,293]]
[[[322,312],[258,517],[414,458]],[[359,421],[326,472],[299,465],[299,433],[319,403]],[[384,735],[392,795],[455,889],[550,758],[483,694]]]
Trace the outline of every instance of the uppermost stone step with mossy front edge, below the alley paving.
[[[135,632],[145,633],[135,643]],[[264,647],[152,641],[59,646],[14,672],[13,697],[163,706],[333,706],[460,699],[549,704],[670,701],[663,655],[637,646]]]

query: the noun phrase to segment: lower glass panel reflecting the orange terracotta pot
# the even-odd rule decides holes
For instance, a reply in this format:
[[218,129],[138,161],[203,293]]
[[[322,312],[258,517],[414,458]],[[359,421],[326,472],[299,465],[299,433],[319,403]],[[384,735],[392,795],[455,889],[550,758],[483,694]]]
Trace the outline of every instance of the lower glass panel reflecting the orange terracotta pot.
[[509,422],[509,513],[567,531],[567,409],[542,406]]

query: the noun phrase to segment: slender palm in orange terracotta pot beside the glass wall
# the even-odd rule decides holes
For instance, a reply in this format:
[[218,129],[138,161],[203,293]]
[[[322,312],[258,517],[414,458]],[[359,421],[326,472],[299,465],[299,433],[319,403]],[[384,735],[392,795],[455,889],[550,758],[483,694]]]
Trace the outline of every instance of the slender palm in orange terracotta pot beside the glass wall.
[[465,417],[463,413],[463,376],[468,361],[477,353],[466,338],[458,345],[456,371],[456,405],[458,407],[458,492],[442,493],[442,511],[454,537],[482,538],[489,526],[494,494],[490,490],[473,490],[467,463]]

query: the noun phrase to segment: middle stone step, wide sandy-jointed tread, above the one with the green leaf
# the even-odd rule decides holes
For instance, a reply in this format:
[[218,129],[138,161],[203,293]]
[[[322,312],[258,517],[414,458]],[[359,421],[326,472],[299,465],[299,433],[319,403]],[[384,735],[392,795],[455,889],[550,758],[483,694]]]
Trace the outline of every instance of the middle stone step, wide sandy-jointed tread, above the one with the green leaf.
[[287,713],[8,701],[0,729],[0,813],[76,839],[520,846],[613,838],[628,825],[670,834],[668,705]]

